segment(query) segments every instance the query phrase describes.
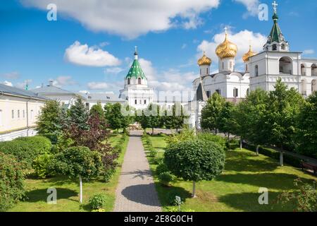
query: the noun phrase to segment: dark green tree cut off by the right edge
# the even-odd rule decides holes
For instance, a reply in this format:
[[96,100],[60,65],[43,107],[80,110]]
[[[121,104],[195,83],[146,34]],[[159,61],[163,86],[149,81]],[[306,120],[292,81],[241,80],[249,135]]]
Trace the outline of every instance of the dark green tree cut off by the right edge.
[[309,96],[297,117],[297,151],[317,157],[317,92]]

